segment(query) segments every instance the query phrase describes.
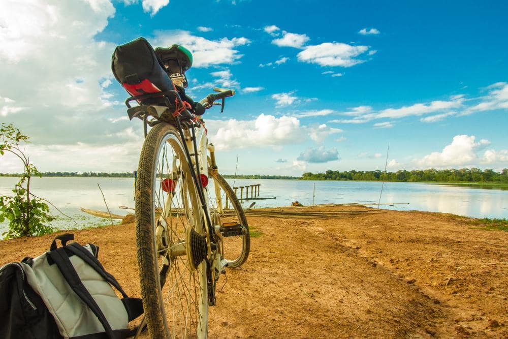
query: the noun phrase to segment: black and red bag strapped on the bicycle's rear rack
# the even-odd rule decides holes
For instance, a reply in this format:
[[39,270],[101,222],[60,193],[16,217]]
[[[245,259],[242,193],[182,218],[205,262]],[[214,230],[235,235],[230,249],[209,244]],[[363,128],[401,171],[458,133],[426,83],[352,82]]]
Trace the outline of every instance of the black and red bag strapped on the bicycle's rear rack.
[[[132,96],[175,89],[162,61],[142,37],[116,47],[111,58],[111,70],[116,80]],[[140,104],[157,105],[164,102],[161,96],[141,100]]]

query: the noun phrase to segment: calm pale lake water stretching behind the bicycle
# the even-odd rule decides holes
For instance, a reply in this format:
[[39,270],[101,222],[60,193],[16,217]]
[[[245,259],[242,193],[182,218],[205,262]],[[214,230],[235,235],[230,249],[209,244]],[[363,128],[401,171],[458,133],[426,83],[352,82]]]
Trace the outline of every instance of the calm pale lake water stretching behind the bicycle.
[[[304,205],[352,202],[377,204],[382,186],[381,182],[367,181],[227,180],[232,187],[233,183],[237,187],[259,183],[261,197],[276,198],[254,200],[256,207],[290,206],[291,202],[296,200]],[[11,190],[17,181],[18,178],[15,177],[0,177],[0,194],[12,194]],[[92,217],[80,210],[84,207],[106,211],[98,183],[112,213],[126,214],[129,210],[118,208],[121,205],[134,207],[133,178],[43,177],[34,178],[31,189],[35,195],[51,201],[61,211],[71,215],[80,227],[86,227],[110,223],[109,220]],[[251,203],[252,201],[245,201],[244,207]],[[381,208],[388,209],[454,213],[475,218],[508,218],[508,191],[498,189],[435,183],[386,182],[381,203],[383,204]],[[52,212],[58,215],[53,208]],[[65,217],[58,217],[54,223],[58,228],[76,227],[74,222]],[[5,222],[0,224],[0,234],[6,229],[6,225]]]

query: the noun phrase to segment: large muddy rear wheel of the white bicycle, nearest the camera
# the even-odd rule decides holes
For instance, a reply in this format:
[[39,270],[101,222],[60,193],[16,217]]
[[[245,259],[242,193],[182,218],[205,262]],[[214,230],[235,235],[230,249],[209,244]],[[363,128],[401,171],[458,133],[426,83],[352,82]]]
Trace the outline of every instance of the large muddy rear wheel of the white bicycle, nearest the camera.
[[[192,170],[178,131],[168,124],[153,127],[136,183],[139,276],[152,338],[207,335],[206,230]],[[189,238],[201,244],[190,260]]]

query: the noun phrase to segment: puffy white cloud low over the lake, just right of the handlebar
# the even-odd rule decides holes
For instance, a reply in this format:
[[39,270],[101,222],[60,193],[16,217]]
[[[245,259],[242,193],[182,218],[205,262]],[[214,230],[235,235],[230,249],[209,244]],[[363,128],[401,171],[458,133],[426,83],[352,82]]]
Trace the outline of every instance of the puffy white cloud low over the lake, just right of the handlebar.
[[255,120],[206,120],[208,135],[218,150],[272,146],[302,141],[305,131],[295,117],[260,114]]

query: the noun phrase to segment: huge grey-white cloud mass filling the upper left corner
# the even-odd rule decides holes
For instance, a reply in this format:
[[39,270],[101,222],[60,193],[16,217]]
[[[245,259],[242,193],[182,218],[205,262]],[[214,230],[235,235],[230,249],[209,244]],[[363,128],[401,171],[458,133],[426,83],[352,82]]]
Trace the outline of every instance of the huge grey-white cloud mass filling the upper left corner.
[[[114,108],[108,90],[113,43],[94,38],[115,13],[107,0],[6,0],[0,11],[2,115],[32,141],[101,142]],[[13,114],[23,109],[23,114]],[[81,128],[77,129],[76,127]],[[115,128],[119,128],[116,126]]]

